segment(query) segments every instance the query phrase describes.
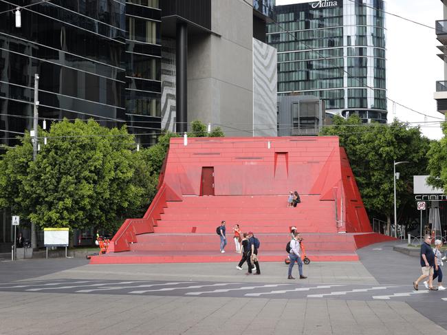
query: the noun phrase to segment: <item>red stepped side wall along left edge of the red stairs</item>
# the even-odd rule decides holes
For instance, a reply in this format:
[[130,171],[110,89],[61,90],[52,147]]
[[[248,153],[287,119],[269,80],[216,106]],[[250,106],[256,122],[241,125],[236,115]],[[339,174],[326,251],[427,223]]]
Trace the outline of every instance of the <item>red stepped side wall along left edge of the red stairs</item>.
[[136,235],[153,233],[156,220],[160,219],[162,208],[166,206],[166,184],[162,184],[142,219],[126,219],[110,241],[107,252],[129,251],[130,244],[137,241]]

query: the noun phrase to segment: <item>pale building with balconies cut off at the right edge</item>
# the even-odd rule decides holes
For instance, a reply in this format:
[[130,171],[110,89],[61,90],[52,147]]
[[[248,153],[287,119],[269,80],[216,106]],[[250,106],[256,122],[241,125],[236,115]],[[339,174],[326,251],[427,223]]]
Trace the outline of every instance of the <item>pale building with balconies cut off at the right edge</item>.
[[435,100],[437,102],[437,111],[444,114],[447,118],[447,1],[441,0],[444,12],[444,19],[436,21],[436,36],[441,43],[439,45],[439,58],[444,61],[444,80],[436,82]]

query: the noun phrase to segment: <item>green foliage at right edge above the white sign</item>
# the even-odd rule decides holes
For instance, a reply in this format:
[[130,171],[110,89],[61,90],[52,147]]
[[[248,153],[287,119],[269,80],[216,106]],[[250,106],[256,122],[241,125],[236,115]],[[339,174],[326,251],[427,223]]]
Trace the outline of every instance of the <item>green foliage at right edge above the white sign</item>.
[[447,192],[447,122],[442,124],[444,138],[433,141],[428,151],[428,184]]

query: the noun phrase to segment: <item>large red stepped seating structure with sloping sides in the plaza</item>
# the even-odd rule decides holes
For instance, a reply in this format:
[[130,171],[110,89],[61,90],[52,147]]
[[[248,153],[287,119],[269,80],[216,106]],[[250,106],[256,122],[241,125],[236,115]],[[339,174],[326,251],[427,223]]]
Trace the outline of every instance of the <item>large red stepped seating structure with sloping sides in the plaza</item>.
[[[290,191],[301,204],[287,208]],[[226,220],[228,245],[216,228]],[[157,195],[127,219],[91,263],[239,261],[231,228],[261,241],[260,261],[282,261],[291,226],[312,261],[355,261],[357,248],[392,239],[373,233],[338,138],[172,138]]]

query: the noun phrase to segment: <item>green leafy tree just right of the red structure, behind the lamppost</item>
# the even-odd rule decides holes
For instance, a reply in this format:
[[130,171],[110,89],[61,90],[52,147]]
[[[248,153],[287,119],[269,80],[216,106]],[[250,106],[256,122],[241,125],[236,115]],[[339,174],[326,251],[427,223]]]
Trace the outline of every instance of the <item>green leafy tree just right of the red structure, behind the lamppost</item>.
[[419,128],[410,128],[395,120],[390,125],[364,125],[357,116],[347,120],[337,116],[334,127],[323,129],[322,135],[336,135],[345,148],[356,176],[365,208],[371,215],[386,217],[388,230],[394,215],[393,162],[408,161],[397,168],[397,206],[414,205],[413,175],[426,173],[430,141]]

